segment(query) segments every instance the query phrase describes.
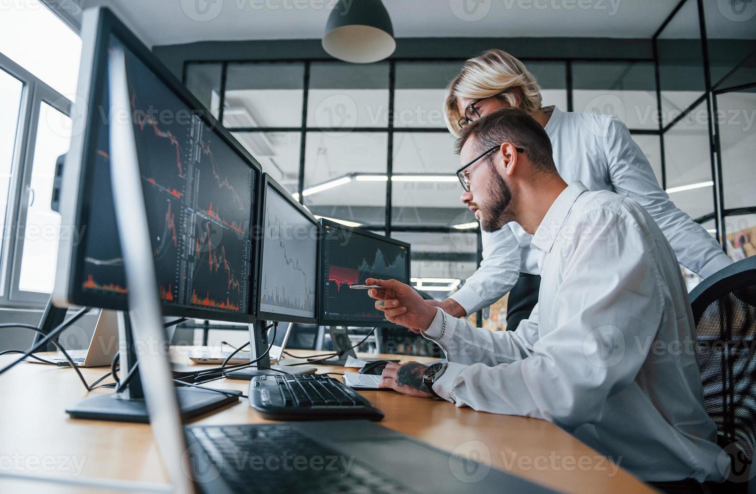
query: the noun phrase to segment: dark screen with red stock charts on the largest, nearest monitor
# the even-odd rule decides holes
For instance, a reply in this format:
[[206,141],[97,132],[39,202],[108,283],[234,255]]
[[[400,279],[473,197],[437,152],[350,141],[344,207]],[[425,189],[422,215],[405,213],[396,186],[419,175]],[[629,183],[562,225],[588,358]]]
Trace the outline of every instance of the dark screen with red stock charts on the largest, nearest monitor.
[[[249,311],[256,171],[138,58],[126,51],[135,146],[163,304]],[[104,91],[101,109],[108,109]],[[108,125],[88,178],[81,287],[128,293],[110,185]]]

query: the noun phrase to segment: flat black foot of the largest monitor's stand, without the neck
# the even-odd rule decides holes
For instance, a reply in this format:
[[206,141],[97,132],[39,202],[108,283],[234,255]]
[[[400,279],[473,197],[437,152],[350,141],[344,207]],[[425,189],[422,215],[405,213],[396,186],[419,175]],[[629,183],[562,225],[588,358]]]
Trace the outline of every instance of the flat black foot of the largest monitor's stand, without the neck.
[[[241,391],[237,390],[223,391],[229,391],[239,396],[242,394]],[[178,395],[178,406],[181,409],[183,421],[231,403],[239,403],[238,396],[228,396],[196,387],[177,387],[176,394]],[[150,421],[144,400],[128,400],[117,397],[114,393],[89,397],[86,400],[74,403],[66,409],[66,412],[71,418],[87,420],[138,422],[141,424],[147,424]]]

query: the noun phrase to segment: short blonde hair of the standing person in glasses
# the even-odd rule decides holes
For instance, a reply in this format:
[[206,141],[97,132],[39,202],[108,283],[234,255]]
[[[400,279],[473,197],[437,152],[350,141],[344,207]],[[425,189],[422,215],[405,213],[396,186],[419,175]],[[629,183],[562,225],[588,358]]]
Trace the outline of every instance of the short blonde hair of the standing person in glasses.
[[459,120],[464,109],[457,108],[458,97],[479,99],[498,96],[515,107],[518,95],[519,108],[531,114],[541,108],[541,88],[525,64],[506,51],[488,50],[467,60],[462,72],[446,88],[444,118],[446,126],[459,135]]

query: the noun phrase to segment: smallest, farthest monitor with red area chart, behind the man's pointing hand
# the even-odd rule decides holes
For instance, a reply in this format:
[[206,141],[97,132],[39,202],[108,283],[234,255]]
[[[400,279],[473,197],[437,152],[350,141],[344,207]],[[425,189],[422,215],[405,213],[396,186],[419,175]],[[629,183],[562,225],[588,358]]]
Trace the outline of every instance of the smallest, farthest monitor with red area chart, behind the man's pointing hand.
[[321,219],[320,323],[324,326],[393,326],[365,290],[367,278],[410,281],[410,245]]

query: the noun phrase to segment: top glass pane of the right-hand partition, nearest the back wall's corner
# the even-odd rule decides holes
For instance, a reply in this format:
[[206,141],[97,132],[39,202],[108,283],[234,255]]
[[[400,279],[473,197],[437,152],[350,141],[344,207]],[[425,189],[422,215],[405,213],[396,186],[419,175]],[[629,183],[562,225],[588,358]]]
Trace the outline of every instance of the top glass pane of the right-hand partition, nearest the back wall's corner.
[[662,122],[667,125],[705,92],[696,0],[686,0],[656,39]]

